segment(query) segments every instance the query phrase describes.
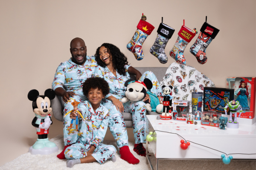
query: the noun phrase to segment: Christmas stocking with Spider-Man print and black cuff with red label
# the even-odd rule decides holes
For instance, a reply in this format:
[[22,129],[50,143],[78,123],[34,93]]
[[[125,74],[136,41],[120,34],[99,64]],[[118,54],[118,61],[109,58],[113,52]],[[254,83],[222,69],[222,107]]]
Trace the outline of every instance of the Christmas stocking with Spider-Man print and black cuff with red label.
[[206,48],[212,42],[212,39],[216,37],[220,30],[205,22],[200,31],[201,33],[189,51],[196,57],[199,64],[204,64],[207,62],[207,57],[205,54]]

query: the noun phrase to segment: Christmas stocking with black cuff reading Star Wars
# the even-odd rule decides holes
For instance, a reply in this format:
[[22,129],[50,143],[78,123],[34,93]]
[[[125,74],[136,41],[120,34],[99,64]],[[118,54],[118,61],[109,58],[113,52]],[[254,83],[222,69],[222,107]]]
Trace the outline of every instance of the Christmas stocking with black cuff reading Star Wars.
[[157,29],[157,38],[154,42],[154,45],[150,48],[150,53],[157,57],[158,60],[165,64],[168,61],[168,58],[164,52],[167,42],[172,37],[175,29],[169,27],[163,23],[160,23]]

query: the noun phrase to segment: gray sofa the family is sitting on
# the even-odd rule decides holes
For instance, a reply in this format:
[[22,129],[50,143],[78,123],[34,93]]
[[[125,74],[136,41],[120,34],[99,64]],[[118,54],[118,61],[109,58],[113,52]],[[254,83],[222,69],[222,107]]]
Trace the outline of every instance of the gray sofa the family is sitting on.
[[[160,82],[163,79],[163,77],[165,76],[167,67],[137,67],[136,69],[138,71],[140,71],[141,74],[143,74],[145,71],[152,71],[156,75],[158,82]],[[135,79],[134,75],[130,75],[130,76],[132,79]],[[62,100],[62,97],[56,95],[55,99],[53,99],[51,102],[52,102],[53,116],[58,121],[62,122],[63,121],[63,110],[64,110],[64,102]],[[148,112],[148,111],[147,111],[147,114],[158,115],[157,112]],[[125,120],[126,127],[132,128],[131,113],[122,112],[122,116]]]

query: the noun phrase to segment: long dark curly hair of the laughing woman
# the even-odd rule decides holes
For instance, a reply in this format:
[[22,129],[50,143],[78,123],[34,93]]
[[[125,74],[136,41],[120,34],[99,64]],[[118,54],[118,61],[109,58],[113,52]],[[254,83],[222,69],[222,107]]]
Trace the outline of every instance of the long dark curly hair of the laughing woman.
[[[103,43],[99,48],[102,46],[108,49],[108,54],[111,54],[110,60],[113,62],[114,69],[116,69],[120,75],[124,76],[125,65],[128,65],[127,57],[125,57],[125,54],[123,54],[120,49],[116,47],[116,45]],[[105,68],[105,63],[99,58],[99,48],[96,50],[95,60],[99,66]]]

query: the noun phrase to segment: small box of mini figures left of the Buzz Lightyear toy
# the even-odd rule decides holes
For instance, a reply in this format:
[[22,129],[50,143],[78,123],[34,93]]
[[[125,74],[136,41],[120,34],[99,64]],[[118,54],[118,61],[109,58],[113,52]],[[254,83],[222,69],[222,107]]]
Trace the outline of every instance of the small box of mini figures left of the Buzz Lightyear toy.
[[203,111],[201,114],[201,125],[219,127],[218,119],[221,113],[215,111]]

